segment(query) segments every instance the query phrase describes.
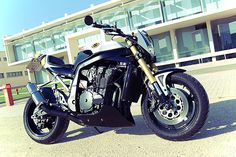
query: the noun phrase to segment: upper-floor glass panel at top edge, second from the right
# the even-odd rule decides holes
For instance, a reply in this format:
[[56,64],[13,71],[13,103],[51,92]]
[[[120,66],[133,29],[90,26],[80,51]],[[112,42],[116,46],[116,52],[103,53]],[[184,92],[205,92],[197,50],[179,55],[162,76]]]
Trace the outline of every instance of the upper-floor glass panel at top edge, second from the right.
[[202,12],[200,0],[165,0],[162,3],[166,21]]

